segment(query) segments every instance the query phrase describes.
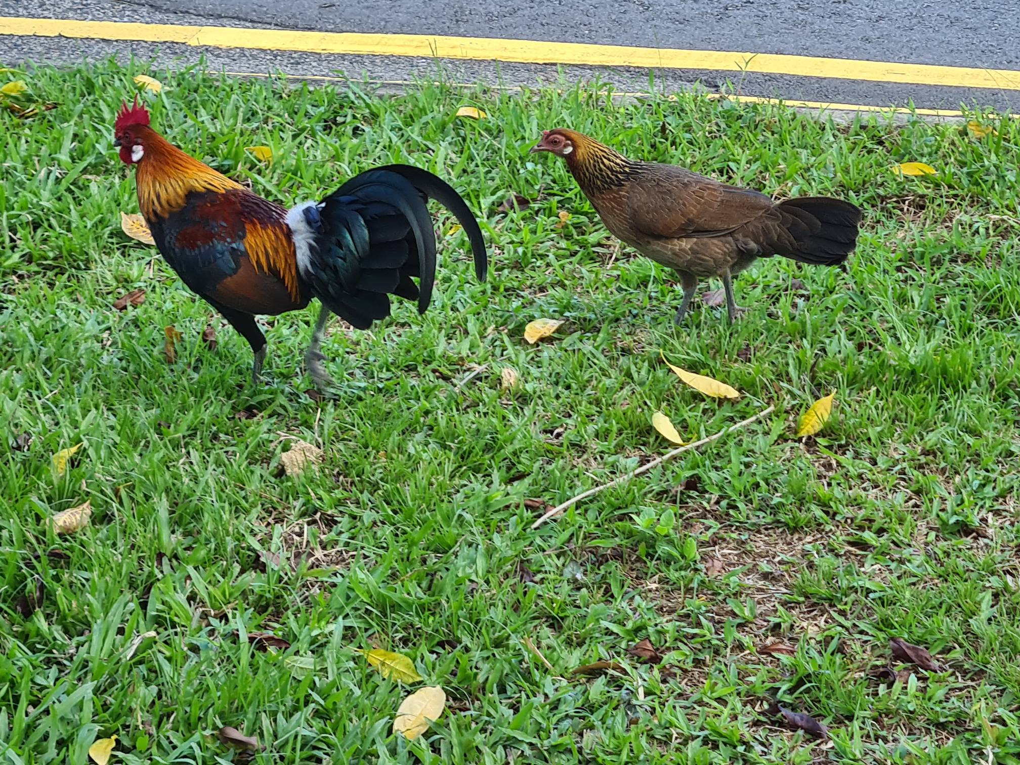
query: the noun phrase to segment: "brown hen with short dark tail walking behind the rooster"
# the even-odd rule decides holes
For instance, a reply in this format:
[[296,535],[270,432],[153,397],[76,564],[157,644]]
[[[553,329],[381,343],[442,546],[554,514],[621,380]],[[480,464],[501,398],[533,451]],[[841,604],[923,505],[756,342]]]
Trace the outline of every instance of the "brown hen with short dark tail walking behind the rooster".
[[698,282],[721,276],[732,322],[744,309],[732,277],[772,255],[838,265],[854,250],[861,210],[829,197],[778,204],[751,189],[720,184],[683,167],[627,159],[588,136],[546,131],[531,152],[566,160],[570,173],[613,236],[672,268],[683,286],[679,324]]

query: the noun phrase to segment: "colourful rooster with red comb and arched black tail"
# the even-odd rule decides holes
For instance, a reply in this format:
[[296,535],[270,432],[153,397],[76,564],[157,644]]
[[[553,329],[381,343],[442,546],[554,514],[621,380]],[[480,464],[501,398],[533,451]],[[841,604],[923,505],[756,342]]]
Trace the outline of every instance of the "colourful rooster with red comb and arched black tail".
[[[315,385],[332,384],[320,346],[330,313],[367,329],[390,315],[390,295],[424,313],[436,279],[431,197],[460,221],[474,270],[489,269],[481,230],[464,200],[432,173],[391,164],[355,175],[321,202],[290,210],[185,154],[149,126],[149,112],[123,104],[114,123],[120,159],[137,166],[142,216],[181,279],[252,347],[252,380],[265,359],[258,314],[321,303],[305,353]],[[412,280],[418,278],[418,284]]]

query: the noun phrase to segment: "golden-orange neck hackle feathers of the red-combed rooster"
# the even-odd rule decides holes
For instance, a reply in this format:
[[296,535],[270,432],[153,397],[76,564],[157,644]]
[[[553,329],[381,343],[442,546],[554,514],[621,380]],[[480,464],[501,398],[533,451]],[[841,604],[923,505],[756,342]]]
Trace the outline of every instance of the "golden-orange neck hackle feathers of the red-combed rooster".
[[145,156],[138,164],[138,203],[146,218],[166,217],[185,206],[192,192],[243,187],[190,157],[155,131],[142,129]]

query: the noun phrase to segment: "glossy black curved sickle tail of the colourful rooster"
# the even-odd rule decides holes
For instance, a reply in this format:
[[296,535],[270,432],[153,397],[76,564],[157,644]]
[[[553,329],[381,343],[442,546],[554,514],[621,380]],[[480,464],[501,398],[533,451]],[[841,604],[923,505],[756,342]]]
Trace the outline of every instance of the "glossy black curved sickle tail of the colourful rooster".
[[315,297],[359,329],[390,315],[390,295],[417,300],[424,313],[436,282],[428,195],[460,220],[484,278],[481,230],[460,196],[426,170],[388,165],[355,175],[306,212],[315,246],[302,273]]

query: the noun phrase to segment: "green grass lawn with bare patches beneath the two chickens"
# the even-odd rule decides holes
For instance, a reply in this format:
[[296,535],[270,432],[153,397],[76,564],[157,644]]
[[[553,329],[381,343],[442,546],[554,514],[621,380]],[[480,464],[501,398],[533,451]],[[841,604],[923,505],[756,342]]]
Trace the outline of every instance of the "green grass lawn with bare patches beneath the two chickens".
[[[0,116],[0,761],[84,763],[116,734],[114,762],[237,762],[215,736],[231,725],[265,763],[1020,762],[1016,122],[975,139],[594,88],[380,98],[153,72],[155,126],[284,204],[408,161],[481,211],[489,282],[447,239],[426,315],[402,302],[371,332],[333,326],[339,382],[318,401],[300,363],[313,311],[269,322],[253,389],[247,344],[121,234],[137,202],[111,123],[142,70],[42,68],[21,98],[59,105]],[[847,272],[760,261],[735,326],[699,307],[676,329],[671,275],[617,254],[562,163],[526,153],[558,125],[845,197],[865,210],[860,246]],[[938,174],[889,170],[908,160]],[[514,192],[539,201],[497,214]],[[111,308],[137,288],[143,305]],[[539,317],[568,323],[528,346]],[[660,351],[745,395],[700,396]],[[826,429],[794,439],[830,391]],[[694,439],[770,403],[529,530],[543,509],[525,499],[557,504],[666,451],[657,409]],[[322,447],[321,469],[282,476],[282,434]],[[51,456],[78,443],[56,476]],[[86,500],[90,525],[55,538],[45,519]],[[259,651],[252,631],[291,648]],[[945,671],[871,678],[890,636]],[[643,639],[661,665],[627,655]],[[775,641],[796,655],[758,651]],[[422,737],[392,733],[409,688],[356,652],[371,647],[446,690]],[[598,660],[623,669],[570,674]],[[766,715],[772,700],[831,742]]]

